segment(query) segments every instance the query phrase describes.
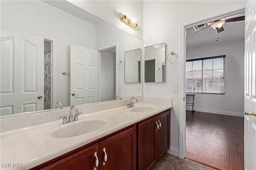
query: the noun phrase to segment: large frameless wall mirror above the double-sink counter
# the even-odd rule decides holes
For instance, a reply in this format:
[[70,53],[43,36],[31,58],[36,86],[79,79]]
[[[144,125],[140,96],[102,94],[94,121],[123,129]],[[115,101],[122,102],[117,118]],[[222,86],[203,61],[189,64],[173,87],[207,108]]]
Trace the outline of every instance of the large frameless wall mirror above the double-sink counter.
[[[138,90],[142,85],[125,84],[124,69],[117,66],[124,61],[125,51],[142,48],[140,39],[65,0],[0,3],[1,118],[48,111],[56,102],[68,107],[112,101],[116,96],[142,96]],[[72,53],[72,45],[96,52],[84,55],[75,49]],[[72,54],[96,65],[73,65]],[[82,76],[86,80],[82,82],[81,74],[74,74],[81,69],[87,69],[84,76],[93,76]],[[112,85],[105,79],[111,79]],[[76,91],[71,90],[73,85]],[[95,93],[83,97],[84,89]]]

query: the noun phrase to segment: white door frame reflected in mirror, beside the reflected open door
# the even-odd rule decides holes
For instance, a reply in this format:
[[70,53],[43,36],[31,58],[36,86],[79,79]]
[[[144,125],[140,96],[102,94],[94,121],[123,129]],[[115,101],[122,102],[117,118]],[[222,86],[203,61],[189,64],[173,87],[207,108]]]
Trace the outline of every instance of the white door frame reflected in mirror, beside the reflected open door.
[[[118,42],[116,42],[115,44],[112,44],[112,45],[107,45],[107,46],[104,46],[104,47],[100,47],[96,50],[98,50],[98,102],[102,102],[100,101],[101,100],[101,79],[100,79],[100,76],[101,76],[101,51],[104,51],[106,49],[111,49],[111,48],[116,48],[116,75],[118,74],[118,67],[117,67],[117,63],[118,63]],[[116,94],[118,94],[118,76],[116,76]]]

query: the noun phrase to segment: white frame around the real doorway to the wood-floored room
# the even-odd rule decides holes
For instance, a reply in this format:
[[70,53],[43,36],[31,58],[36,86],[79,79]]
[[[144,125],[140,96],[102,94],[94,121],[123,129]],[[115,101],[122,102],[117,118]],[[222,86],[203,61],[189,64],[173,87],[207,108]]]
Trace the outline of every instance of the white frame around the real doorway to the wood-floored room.
[[226,18],[245,11],[246,2],[180,23],[180,94],[179,94],[179,151],[180,158],[186,156],[186,28],[219,18]]

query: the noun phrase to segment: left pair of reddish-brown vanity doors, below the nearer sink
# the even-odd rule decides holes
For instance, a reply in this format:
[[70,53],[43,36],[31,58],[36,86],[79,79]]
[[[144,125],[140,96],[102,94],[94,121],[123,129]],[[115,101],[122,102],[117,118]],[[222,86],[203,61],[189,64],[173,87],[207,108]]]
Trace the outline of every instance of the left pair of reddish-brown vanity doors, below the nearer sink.
[[[136,170],[136,126],[54,162],[42,170]],[[107,161],[104,162],[105,152]],[[96,168],[97,153],[99,160]]]

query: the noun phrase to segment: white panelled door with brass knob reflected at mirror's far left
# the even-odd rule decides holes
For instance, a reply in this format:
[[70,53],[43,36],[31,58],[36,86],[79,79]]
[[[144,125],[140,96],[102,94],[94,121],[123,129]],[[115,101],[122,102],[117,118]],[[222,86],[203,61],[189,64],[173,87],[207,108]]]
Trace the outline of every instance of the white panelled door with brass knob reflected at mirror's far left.
[[1,25],[1,116],[44,109],[44,38]]

